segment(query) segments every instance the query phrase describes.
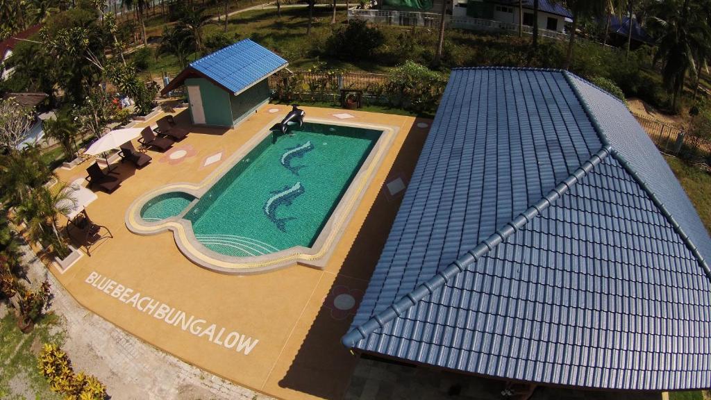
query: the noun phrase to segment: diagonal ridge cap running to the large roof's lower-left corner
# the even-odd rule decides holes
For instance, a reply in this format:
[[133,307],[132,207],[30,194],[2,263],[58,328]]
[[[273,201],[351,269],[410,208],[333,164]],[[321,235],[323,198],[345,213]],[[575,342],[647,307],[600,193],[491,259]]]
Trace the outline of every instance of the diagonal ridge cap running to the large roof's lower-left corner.
[[506,240],[506,238],[513,235],[520,230],[520,228],[523,228],[523,226],[526,226],[536,216],[540,215],[543,210],[547,209],[548,206],[566,194],[572,186],[577,184],[577,182],[586,177],[592,169],[597,167],[610,152],[611,148],[609,144],[604,144],[602,149],[592,154],[590,159],[572,172],[569,177],[560,182],[560,184],[557,184],[554,189],[549,191],[537,203],[533,204],[533,206],[528,207],[528,209],[518,214],[513,220],[506,223],[503,228],[499,228],[496,232],[491,234],[491,236],[481,241],[476,247],[464,253],[464,256],[454,260],[453,263],[447,265],[447,268],[439,271],[439,273],[417,286],[415,290],[407,293],[407,295],[400,298],[400,300],[392,303],[389,307],[385,308],[385,310],[379,312],[377,315],[373,315],[373,317],[370,317],[365,323],[348,331],[341,339],[343,345],[349,348],[354,347],[355,342],[367,338],[371,332],[384,327],[387,322],[394,320],[395,317],[402,315],[410,307],[417,305],[419,300],[422,300],[427,295],[431,295],[434,290],[442,287],[451,280],[451,278],[454,278],[455,275],[464,272],[471,264],[479,260],[481,256],[484,256]]

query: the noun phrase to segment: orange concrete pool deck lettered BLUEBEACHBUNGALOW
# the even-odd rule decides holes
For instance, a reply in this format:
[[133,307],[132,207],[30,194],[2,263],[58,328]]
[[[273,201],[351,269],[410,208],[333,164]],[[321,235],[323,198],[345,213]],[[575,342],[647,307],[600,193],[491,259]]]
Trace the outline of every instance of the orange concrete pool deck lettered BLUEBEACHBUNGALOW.
[[[165,153],[149,150],[153,161],[144,169],[120,164],[122,186],[112,194],[97,191],[87,206],[114,238],[64,273],[52,272],[83,306],[190,364],[269,396],[339,399],[357,361],[340,338],[404,193],[391,191],[407,184],[430,120],[304,107],[309,117],[335,122],[347,114],[353,116],[348,122],[400,128],[324,270],[293,265],[257,275],[215,273],[183,256],[171,233],[139,236],[124,225],[124,213],[138,196],[171,182],[202,181],[289,109],[265,105],[234,130],[191,127],[181,112],[176,120],[191,135]],[[161,116],[139,126],[154,125]],[[89,165],[58,169],[59,179],[83,179]]]

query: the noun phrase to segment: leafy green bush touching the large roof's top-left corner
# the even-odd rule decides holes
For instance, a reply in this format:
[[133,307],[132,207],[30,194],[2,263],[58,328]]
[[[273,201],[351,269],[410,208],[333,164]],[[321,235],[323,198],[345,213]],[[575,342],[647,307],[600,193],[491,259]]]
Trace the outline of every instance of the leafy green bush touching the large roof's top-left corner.
[[406,61],[392,70],[386,90],[391,101],[399,107],[417,112],[433,110],[447,85],[447,76],[429,70],[424,65]]

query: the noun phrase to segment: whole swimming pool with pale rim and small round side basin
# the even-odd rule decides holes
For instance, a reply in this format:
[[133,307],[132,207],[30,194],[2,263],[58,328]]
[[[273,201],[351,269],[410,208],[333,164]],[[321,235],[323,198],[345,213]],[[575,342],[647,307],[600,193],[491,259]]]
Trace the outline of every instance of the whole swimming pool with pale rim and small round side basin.
[[141,196],[129,207],[127,226],[141,234],[171,229],[188,258],[223,272],[295,259],[319,266],[313,262],[330,250],[324,246],[352,211],[392,133],[392,127],[317,120],[289,135],[262,132],[203,184]]

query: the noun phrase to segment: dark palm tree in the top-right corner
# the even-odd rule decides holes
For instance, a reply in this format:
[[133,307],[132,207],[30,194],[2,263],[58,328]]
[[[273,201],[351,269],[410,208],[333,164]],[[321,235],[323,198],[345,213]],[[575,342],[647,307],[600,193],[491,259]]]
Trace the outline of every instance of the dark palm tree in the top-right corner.
[[697,2],[662,0],[653,6],[651,28],[656,28],[658,48],[655,63],[662,62],[664,85],[672,96],[671,107],[678,109],[687,73],[695,75],[696,63],[711,53],[711,28],[705,7]]

